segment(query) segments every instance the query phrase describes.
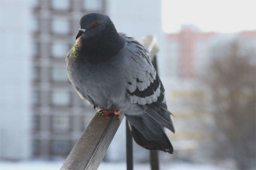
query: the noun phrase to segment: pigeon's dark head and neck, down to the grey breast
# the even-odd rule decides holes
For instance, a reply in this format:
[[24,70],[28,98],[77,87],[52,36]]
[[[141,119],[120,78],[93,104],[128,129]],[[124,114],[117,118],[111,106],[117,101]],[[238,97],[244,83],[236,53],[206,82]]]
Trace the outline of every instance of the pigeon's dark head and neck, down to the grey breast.
[[79,59],[90,63],[102,63],[111,59],[124,47],[124,38],[119,35],[106,14],[85,14],[80,20],[74,50]]

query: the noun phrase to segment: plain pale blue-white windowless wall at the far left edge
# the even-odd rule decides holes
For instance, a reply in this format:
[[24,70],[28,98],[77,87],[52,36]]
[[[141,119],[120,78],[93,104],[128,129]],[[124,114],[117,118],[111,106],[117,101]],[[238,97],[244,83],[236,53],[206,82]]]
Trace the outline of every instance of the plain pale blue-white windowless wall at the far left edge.
[[30,7],[0,5],[0,159],[26,159],[31,152]]

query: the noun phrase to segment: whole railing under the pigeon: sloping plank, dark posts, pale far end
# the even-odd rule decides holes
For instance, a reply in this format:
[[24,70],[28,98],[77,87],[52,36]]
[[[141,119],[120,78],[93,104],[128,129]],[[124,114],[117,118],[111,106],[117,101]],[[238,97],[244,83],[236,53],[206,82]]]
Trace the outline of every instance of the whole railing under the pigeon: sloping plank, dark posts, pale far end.
[[[156,54],[159,51],[154,36],[143,37],[143,45],[148,48],[152,63],[157,71]],[[111,143],[114,134],[119,128],[124,116],[117,119],[115,116],[93,117],[88,127],[82,133],[79,141],[64,161],[61,170],[92,170],[97,169]],[[126,121],[126,164],[127,170],[133,169],[132,137]],[[158,152],[150,151],[150,164],[152,170],[159,169]]]

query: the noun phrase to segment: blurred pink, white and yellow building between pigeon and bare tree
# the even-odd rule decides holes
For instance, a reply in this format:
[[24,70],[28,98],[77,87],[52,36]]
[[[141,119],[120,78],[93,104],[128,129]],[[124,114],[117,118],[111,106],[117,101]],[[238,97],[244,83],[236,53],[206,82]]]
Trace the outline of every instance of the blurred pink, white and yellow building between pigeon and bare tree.
[[177,133],[170,136],[177,157],[199,161],[209,154],[205,147],[210,142],[205,125],[212,120],[207,115],[209,95],[201,77],[206,76],[207,65],[216,53],[214,47],[235,40],[241,43],[244,52],[252,50],[256,48],[256,31],[222,34],[183,26],[177,33],[166,34],[166,64],[161,66],[165,69],[166,100],[175,116]]

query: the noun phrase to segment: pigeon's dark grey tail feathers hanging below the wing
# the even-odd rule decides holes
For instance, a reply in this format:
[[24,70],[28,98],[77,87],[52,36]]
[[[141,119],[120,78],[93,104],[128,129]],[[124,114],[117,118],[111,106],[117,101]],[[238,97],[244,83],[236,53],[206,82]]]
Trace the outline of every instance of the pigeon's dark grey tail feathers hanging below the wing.
[[[166,118],[163,119],[163,117],[161,116],[151,116],[160,114],[168,114],[169,121],[168,119],[166,120]],[[167,138],[166,133],[163,129],[163,127],[167,127],[170,130],[172,130],[172,132],[174,132],[170,114],[171,113],[169,111],[166,113],[158,113],[154,110],[147,110],[139,116],[125,116],[127,121],[129,122],[131,135],[133,136],[137,144],[140,144],[141,146],[148,150],[163,150],[172,154],[172,144],[170,140]],[[165,121],[162,122],[162,119]],[[169,123],[168,126],[166,126],[167,122]]]

